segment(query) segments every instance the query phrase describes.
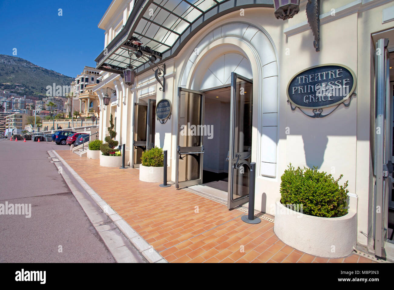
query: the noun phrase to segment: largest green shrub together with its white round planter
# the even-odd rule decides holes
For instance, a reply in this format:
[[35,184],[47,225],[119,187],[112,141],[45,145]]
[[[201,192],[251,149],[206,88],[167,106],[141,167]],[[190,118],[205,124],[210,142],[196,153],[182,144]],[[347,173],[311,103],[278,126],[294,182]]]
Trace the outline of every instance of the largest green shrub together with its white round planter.
[[342,176],[335,180],[317,167],[290,164],[281,176],[281,200],[275,203],[278,238],[315,256],[348,256],[357,240],[357,197],[351,197],[349,207],[348,181],[338,184]]

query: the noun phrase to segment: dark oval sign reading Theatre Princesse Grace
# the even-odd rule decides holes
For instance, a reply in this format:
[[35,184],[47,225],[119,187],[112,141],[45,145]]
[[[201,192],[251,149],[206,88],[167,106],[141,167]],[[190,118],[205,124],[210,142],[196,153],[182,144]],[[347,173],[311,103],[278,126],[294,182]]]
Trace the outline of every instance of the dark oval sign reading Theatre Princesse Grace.
[[287,86],[289,101],[300,108],[320,109],[346,101],[356,88],[353,71],[340,64],[323,64],[304,69]]

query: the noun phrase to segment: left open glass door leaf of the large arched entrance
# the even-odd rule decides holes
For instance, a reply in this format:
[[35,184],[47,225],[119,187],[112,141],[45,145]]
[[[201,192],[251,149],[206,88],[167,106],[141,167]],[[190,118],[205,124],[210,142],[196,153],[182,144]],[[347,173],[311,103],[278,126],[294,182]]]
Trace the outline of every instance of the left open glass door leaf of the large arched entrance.
[[177,163],[175,186],[186,187],[203,182],[204,94],[178,88]]

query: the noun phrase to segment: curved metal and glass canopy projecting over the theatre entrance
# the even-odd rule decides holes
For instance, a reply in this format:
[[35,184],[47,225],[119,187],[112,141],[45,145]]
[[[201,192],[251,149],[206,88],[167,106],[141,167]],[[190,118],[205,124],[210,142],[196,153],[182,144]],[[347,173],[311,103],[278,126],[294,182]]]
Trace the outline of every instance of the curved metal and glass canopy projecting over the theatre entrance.
[[[137,74],[159,65],[178,54],[180,49],[209,22],[240,8],[269,7],[272,0],[137,0],[125,27],[96,58],[97,69],[121,74],[129,64],[128,51],[143,52],[132,56]],[[130,39],[137,37],[143,45]],[[145,60],[156,56],[158,62]],[[159,67],[158,67],[159,69]],[[160,69],[159,69],[160,70]],[[157,70],[156,70],[157,71]],[[164,72],[165,73],[165,72]],[[163,80],[164,82],[164,80]]]

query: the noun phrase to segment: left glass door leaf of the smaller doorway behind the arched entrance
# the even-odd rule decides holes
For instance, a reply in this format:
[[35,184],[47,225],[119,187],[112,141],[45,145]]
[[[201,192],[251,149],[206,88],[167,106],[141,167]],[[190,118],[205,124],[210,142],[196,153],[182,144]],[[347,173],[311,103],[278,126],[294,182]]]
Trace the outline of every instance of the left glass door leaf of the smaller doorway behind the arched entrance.
[[141,155],[147,148],[148,104],[134,103],[133,158],[132,167],[141,164]]

